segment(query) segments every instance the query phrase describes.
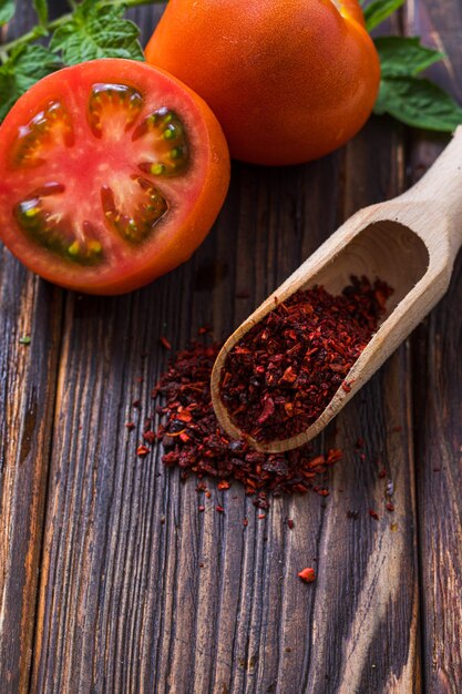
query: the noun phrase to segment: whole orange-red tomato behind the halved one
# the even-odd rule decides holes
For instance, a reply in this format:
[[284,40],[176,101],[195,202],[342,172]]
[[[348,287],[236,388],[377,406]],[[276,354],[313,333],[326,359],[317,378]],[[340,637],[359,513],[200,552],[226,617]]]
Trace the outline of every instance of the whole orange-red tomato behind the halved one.
[[233,157],[257,164],[345,144],[380,81],[357,0],[170,0],[145,54],[205,99]]

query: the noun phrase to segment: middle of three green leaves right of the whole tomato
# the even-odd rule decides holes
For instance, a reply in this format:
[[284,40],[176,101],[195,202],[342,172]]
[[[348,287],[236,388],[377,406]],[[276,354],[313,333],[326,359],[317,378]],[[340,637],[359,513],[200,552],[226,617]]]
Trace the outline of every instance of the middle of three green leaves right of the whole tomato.
[[373,42],[382,78],[414,76],[445,58],[444,53],[422,45],[419,37],[379,37]]

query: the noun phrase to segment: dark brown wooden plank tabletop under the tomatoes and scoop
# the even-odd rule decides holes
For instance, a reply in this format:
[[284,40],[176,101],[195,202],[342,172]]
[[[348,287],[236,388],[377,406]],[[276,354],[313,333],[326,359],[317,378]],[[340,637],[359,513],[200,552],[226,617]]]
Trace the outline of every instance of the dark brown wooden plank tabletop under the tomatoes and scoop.
[[[17,4],[10,35],[33,22]],[[133,13],[144,39],[160,11]],[[460,1],[408,0],[386,29],[444,50],[431,75],[462,102]],[[237,484],[212,484],[199,513],[194,479],[135,456],[168,357],[158,337],[228,335],[446,141],[372,118],[318,162],[235,163],[201,249],[129,296],[63,292],[1,251],[1,694],[462,692],[460,258],[446,297],[320,437],[345,451],[327,499],[275,499],[259,520]]]

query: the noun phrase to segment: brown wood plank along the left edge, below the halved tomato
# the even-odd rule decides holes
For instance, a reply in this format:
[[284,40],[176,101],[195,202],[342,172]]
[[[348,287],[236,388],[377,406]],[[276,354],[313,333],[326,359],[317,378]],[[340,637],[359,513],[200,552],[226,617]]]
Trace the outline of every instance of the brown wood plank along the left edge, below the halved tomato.
[[[17,2],[8,35],[33,22]],[[0,249],[0,690],[29,686],[62,293]],[[20,338],[31,337],[30,345]]]

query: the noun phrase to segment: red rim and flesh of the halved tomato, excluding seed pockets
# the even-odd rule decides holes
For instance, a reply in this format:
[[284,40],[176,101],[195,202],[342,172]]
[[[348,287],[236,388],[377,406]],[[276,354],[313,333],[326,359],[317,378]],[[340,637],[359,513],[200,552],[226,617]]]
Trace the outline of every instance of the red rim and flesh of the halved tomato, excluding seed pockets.
[[[86,96],[90,85],[93,83],[126,83],[140,89],[145,96],[146,109],[155,105],[164,106],[172,102],[175,112],[185,124],[191,135],[192,165],[184,174],[173,180],[167,185],[177,186],[174,212],[174,223],[167,216],[160,233],[154,233],[152,238],[144,245],[131,249],[122,248],[120,239],[115,242],[121,251],[110,257],[107,264],[101,267],[74,267],[69,261],[53,257],[47,249],[40,247],[27,238],[14,223],[11,200],[19,195],[17,190],[23,187],[24,195],[37,188],[29,183],[40,174],[40,167],[16,171],[11,165],[11,151],[14,139],[20,129],[29,123],[40,112],[50,99],[59,98],[69,106],[70,115],[74,122],[75,144],[82,145],[85,156],[82,159],[79,171],[75,173],[75,164],[72,163],[70,149],[69,170],[72,176],[76,176],[76,185],[72,188],[74,195],[73,205],[79,211],[86,203],[84,191],[88,191],[89,171],[92,163],[92,152],[96,141],[92,140],[91,131],[85,122],[88,114]],[[153,95],[154,94],[154,95]],[[82,96],[84,95],[84,98]],[[79,99],[82,96],[81,102]],[[157,100],[156,102],[153,100]],[[158,102],[158,103],[157,103]],[[151,113],[150,111],[150,113]],[[146,111],[147,114],[147,111]],[[134,126],[133,126],[134,127]],[[123,150],[130,156],[131,132]],[[17,102],[0,126],[0,238],[9,249],[32,272],[62,287],[89,294],[123,294],[148,284],[153,279],[172,271],[181,263],[187,261],[208,234],[216,216],[225,200],[229,184],[229,154],[223,131],[212,113],[211,109],[201,96],[191,88],[182,84],[179,80],[157,70],[151,65],[121,59],[103,59],[81,63],[72,68],[65,68],[44,78],[34,84]],[[111,174],[117,176],[116,157],[111,147],[107,149],[107,169]],[[136,162],[134,161],[136,173]],[[72,169],[72,166],[74,169]],[[68,172],[64,160],[63,170],[55,173],[44,173],[43,182],[48,178],[62,178],[66,183]],[[142,177],[144,174],[138,175]],[[61,178],[60,178],[61,176]],[[82,190],[79,185],[79,177]],[[160,187],[164,185],[161,181]],[[29,186],[29,187],[28,187]],[[85,188],[83,190],[83,186]],[[182,191],[184,195],[182,197]],[[166,193],[168,196],[168,193]],[[101,193],[96,191],[95,200],[101,203]],[[99,207],[99,205],[96,205]],[[170,214],[170,212],[168,212]],[[94,210],[94,215],[88,215],[99,220],[104,217],[104,212]],[[157,228],[157,227],[156,227]],[[111,241],[113,243],[113,239]]]

